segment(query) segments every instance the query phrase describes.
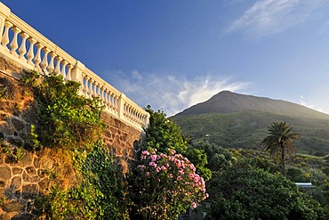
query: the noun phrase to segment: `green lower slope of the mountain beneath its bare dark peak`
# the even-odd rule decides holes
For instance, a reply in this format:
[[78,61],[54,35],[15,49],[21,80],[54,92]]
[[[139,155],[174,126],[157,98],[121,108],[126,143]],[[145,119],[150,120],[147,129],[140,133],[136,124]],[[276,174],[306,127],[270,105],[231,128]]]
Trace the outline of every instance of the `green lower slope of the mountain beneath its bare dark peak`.
[[[173,121],[183,134],[194,140],[217,143],[222,147],[261,150],[261,141],[272,122],[286,121],[293,133],[301,137],[295,142],[299,152],[329,152],[329,120],[293,118],[261,111],[208,113],[176,116]],[[206,137],[205,134],[210,134]]]

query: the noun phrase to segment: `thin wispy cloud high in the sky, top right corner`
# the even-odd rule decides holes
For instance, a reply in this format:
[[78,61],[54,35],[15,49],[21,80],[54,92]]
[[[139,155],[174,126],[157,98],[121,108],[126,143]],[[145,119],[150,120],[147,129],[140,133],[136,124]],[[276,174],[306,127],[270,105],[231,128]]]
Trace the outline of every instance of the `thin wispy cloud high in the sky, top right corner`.
[[259,0],[234,20],[228,33],[243,30],[255,37],[276,34],[308,20],[326,0]]

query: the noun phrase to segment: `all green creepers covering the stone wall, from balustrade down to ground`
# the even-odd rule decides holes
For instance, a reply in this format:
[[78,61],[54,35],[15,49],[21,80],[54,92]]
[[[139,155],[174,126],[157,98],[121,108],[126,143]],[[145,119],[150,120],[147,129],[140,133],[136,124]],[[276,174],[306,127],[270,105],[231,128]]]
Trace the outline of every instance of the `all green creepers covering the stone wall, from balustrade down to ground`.
[[[38,124],[31,126],[33,150],[52,148],[71,161],[77,183],[65,187],[55,174],[49,193],[36,199],[34,213],[47,219],[126,219],[124,179],[100,141],[105,124],[98,98],[78,94],[80,84],[54,73],[31,71],[21,79],[38,104]],[[69,167],[69,166],[68,166]]]

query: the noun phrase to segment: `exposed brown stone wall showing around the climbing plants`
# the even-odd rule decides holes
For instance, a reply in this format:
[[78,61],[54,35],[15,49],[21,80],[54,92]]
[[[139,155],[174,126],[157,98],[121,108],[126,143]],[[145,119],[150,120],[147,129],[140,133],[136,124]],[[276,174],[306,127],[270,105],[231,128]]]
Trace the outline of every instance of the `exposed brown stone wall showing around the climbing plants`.
[[[0,53],[0,219],[32,219],[33,202],[50,189],[52,171],[65,173],[60,175],[64,187],[75,183],[74,169],[60,152],[21,148],[28,145],[30,126],[37,126],[37,103],[30,88],[18,80],[23,71]],[[102,118],[108,125],[103,141],[125,173],[141,133],[105,112]]]

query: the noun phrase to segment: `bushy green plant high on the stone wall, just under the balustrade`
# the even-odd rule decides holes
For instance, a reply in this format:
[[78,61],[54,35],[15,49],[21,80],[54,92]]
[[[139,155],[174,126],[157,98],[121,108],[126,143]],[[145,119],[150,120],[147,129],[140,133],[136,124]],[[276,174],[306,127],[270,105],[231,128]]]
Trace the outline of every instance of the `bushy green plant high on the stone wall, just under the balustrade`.
[[43,146],[72,149],[99,139],[104,128],[103,107],[98,98],[80,96],[79,83],[36,71],[22,77],[22,82],[33,88],[38,104],[38,140]]

